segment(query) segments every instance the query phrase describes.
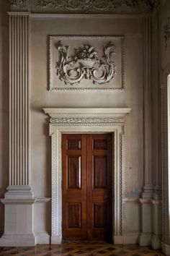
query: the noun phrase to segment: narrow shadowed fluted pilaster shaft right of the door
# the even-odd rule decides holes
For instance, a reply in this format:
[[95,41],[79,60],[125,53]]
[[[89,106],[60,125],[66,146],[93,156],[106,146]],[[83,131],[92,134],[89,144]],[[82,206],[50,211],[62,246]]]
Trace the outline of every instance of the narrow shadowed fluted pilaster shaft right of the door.
[[151,16],[143,19],[143,91],[144,91],[144,187],[143,198],[153,195],[152,175],[152,77],[151,77]]

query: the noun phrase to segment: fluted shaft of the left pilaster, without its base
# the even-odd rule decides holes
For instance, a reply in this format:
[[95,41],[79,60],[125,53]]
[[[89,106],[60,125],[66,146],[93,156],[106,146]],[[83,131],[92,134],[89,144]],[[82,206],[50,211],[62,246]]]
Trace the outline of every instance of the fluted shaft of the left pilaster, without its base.
[[9,185],[29,184],[28,21],[9,16]]

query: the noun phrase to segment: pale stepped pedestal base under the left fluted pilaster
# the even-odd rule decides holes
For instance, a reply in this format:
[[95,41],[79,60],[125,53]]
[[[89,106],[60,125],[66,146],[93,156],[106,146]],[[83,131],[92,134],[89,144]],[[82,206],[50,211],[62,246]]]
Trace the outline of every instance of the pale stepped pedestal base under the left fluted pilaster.
[[[9,190],[9,189],[8,189]],[[29,195],[23,195],[21,191],[26,191]],[[6,192],[4,203],[4,235],[0,239],[0,246],[34,246],[35,234],[33,232],[33,203],[31,192],[28,186],[17,189],[14,187],[10,192]],[[16,197],[16,198],[14,198]]]

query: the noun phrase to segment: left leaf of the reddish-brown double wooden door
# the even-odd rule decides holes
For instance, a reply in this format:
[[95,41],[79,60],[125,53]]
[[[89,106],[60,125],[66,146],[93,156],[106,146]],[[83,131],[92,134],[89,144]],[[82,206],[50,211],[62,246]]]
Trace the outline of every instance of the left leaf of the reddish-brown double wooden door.
[[63,135],[63,239],[86,239],[86,135]]

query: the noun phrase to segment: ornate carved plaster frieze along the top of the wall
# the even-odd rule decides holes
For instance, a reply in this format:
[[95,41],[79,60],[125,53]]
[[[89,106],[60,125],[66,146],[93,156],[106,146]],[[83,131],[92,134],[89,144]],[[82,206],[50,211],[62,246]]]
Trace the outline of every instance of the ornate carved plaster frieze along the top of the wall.
[[138,13],[160,6],[160,0],[9,0],[11,10],[55,13]]

